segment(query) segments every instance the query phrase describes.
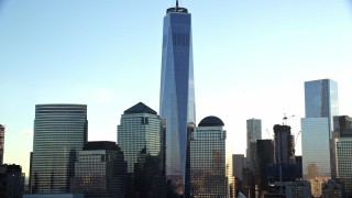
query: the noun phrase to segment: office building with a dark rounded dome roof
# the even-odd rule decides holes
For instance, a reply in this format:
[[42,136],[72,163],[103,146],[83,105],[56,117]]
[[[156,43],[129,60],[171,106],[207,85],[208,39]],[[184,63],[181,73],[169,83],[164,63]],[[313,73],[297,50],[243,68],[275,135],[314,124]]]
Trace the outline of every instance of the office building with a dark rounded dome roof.
[[227,132],[217,117],[200,121],[190,139],[191,197],[228,197]]

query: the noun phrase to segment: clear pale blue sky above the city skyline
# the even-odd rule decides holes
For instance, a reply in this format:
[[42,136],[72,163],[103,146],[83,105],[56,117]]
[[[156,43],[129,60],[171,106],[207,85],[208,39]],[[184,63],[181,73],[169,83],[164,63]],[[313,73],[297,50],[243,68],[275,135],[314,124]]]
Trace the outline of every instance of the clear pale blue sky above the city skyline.
[[[300,131],[304,81],[339,84],[352,117],[352,2],[180,1],[193,13],[197,122],[223,120],[232,153],[245,121],[263,139],[284,113]],[[4,162],[29,172],[37,103],[88,105],[89,141],[117,141],[123,111],[158,111],[163,16],[173,0],[0,0],[0,123]],[[298,139],[298,154],[300,144]]]

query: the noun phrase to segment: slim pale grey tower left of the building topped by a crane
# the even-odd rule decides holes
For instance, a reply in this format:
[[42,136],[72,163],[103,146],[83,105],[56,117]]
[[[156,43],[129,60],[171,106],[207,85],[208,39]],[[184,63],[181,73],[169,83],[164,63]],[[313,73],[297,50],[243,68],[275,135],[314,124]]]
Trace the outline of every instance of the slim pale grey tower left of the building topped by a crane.
[[246,160],[250,168],[255,169],[256,140],[262,140],[262,120],[246,120]]

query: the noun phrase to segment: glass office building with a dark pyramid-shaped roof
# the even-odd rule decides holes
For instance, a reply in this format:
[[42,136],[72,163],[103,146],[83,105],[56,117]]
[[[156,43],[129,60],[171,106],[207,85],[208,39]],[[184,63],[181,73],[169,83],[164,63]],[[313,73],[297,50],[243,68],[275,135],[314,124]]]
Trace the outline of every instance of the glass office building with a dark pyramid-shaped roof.
[[[163,197],[165,122],[142,102],[125,110],[118,125],[118,145],[128,163],[130,197]],[[165,184],[165,185],[164,185]]]

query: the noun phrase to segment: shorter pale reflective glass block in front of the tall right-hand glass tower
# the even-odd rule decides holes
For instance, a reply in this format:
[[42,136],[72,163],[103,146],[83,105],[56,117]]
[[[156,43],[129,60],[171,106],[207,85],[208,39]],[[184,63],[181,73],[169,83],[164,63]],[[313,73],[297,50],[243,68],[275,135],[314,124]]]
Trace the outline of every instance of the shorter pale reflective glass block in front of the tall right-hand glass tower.
[[329,119],[301,119],[302,176],[311,184],[311,194],[321,195],[321,184],[331,177]]

